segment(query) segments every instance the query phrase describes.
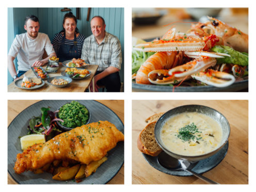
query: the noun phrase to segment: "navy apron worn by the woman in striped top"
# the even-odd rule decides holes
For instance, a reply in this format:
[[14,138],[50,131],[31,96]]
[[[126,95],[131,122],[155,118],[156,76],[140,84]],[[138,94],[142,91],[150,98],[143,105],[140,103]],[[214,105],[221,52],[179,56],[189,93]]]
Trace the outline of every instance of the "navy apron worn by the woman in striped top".
[[59,61],[63,62],[66,60],[71,60],[73,58],[78,59],[78,50],[77,50],[77,41],[76,41],[76,35],[74,37],[74,44],[69,45],[65,44],[66,35],[62,38],[61,45],[58,50],[58,57]]

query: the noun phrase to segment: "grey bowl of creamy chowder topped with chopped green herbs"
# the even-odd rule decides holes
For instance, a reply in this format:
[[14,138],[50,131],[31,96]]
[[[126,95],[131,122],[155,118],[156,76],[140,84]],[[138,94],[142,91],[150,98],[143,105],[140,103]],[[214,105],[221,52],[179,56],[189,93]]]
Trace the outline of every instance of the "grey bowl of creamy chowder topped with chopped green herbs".
[[184,105],[159,118],[154,132],[158,145],[167,154],[196,162],[214,155],[226,144],[230,125],[211,107]]

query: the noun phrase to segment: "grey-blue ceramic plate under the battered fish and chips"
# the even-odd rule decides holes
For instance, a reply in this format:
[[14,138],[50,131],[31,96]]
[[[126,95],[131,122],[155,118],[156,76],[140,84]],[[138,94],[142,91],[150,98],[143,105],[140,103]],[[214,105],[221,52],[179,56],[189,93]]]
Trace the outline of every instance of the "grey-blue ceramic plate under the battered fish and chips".
[[[31,171],[22,174],[14,173],[13,167],[16,156],[21,153],[21,144],[19,136],[27,133],[29,118],[39,116],[41,107],[51,107],[56,110],[58,107],[72,100],[44,100],[35,103],[24,109],[8,127],[8,173],[19,184],[66,184],[66,181],[56,181],[52,179],[51,173],[34,174]],[[118,116],[105,105],[92,100],[77,100],[79,103],[86,105],[91,112],[91,122],[107,120],[116,125],[117,129],[124,133],[124,126]],[[117,146],[108,152],[108,159],[104,162],[95,173],[88,178],[83,178],[82,182],[76,183],[72,180],[67,184],[105,184],[110,181],[120,170],[124,163],[124,142],[118,142]]]

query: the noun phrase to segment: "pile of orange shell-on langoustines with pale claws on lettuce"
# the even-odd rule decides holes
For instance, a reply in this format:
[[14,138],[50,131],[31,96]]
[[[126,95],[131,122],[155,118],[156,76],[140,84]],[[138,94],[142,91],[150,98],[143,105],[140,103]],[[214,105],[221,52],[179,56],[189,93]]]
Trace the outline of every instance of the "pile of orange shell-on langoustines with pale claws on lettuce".
[[[181,56],[179,57],[179,62],[173,59],[174,56],[170,58],[159,57],[158,60],[149,58],[139,69],[136,75],[136,83],[145,84],[145,82],[147,82],[147,84],[149,84],[150,82],[152,84],[160,85],[173,84],[191,77],[216,87],[229,86],[235,82],[234,76],[229,73],[206,70],[207,68],[216,65],[215,57],[229,55],[205,51],[211,49],[214,45],[228,44],[238,51],[248,52],[248,35],[219,20],[214,18],[209,19],[210,21],[208,22],[193,25],[187,33],[180,33],[174,28],[171,28],[161,40],[136,45],[134,47],[135,50],[157,52],[151,56],[152,58],[158,58],[160,55],[159,53],[163,52],[179,53]],[[167,56],[173,55],[171,53]],[[184,60],[183,57],[196,59],[181,65],[181,60]],[[166,60],[168,62],[166,62]],[[175,65],[172,65],[174,64],[174,61]],[[154,67],[158,66],[158,63],[161,63],[160,66],[162,66],[162,68]],[[162,63],[166,63],[166,65],[163,65]],[[191,63],[194,64],[191,65]],[[176,65],[178,66],[175,67]],[[147,68],[147,66],[150,66],[150,68]],[[171,68],[168,69],[169,66],[171,66]],[[147,70],[145,70],[145,68]],[[237,65],[236,67],[233,66],[233,74],[234,70],[237,68]],[[148,77],[146,74],[148,74]],[[209,76],[211,77],[209,78]]]

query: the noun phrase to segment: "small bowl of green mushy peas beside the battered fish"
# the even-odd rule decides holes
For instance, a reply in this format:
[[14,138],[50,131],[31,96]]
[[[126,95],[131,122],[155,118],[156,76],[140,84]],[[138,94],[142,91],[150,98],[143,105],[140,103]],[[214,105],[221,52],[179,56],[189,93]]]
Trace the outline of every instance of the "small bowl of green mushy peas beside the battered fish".
[[75,127],[88,124],[91,120],[90,111],[85,105],[77,101],[66,103],[59,107],[58,110],[56,116],[63,122],[57,121],[57,124],[65,131],[70,131]]

